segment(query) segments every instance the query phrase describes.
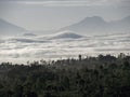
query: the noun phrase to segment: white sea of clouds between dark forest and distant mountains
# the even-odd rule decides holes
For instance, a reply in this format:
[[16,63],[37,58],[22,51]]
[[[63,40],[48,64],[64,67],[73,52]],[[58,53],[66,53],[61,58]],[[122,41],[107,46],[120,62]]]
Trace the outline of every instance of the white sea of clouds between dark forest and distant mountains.
[[99,54],[118,55],[119,53],[128,54],[129,52],[130,33],[83,36],[81,38],[63,39],[56,39],[53,34],[0,38],[0,63],[61,59],[77,57],[79,54],[84,57]]

